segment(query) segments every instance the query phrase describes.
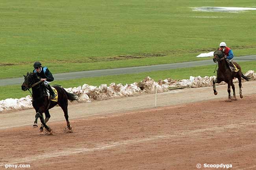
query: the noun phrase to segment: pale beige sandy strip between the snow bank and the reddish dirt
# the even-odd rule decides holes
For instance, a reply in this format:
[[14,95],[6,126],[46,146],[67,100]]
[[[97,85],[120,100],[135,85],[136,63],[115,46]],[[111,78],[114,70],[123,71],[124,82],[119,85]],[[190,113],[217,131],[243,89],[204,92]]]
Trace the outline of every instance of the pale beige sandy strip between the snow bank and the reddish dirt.
[[[243,95],[256,94],[256,81],[243,82]],[[236,86],[237,99],[239,98],[239,87]],[[227,85],[216,86],[218,95],[213,95],[212,87],[205,88],[187,88],[180,90],[171,90],[157,94],[157,107],[184,104],[189,102],[199,102],[206,100],[215,100],[228,98]],[[223,99],[224,100],[224,99]],[[110,99],[106,101],[93,101],[79,103],[74,101],[69,103],[69,119],[81,117],[90,117],[92,115],[104,115],[107,113],[120,113],[131,110],[141,110],[154,108],[155,94],[139,95],[134,97],[123,97],[119,99]],[[54,107],[50,110],[52,121],[65,121],[64,113],[60,107]],[[35,118],[35,110],[22,110],[17,112],[0,113],[0,130],[11,127],[32,125]],[[40,122],[40,121],[39,121]]]

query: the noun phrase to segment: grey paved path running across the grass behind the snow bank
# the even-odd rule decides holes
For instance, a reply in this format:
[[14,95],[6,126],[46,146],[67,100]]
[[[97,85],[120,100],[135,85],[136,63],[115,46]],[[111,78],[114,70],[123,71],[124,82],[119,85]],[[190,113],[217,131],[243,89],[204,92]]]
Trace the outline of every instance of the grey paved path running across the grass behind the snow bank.
[[[256,60],[256,55],[236,57],[234,61],[243,62],[243,61],[252,61],[252,60]],[[153,66],[139,66],[139,67],[128,67],[128,68],[98,69],[98,70],[90,70],[90,71],[57,73],[57,74],[54,74],[54,80],[70,80],[70,79],[79,79],[79,78],[86,78],[86,77],[132,74],[132,73],[159,71],[159,70],[176,69],[176,68],[207,66],[207,65],[213,65],[213,64],[215,63],[212,60],[200,60],[200,61],[173,63],[173,64],[160,64],[160,65],[153,65]],[[13,78],[13,79],[0,79],[0,86],[22,84],[23,81],[24,81],[24,77]]]

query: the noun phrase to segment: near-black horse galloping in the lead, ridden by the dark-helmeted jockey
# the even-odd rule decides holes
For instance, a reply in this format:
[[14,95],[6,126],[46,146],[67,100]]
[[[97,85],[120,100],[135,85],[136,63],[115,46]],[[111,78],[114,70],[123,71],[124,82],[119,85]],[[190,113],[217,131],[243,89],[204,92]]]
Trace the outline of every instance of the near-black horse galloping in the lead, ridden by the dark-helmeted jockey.
[[[50,126],[46,125],[46,122],[48,122],[50,119],[49,109],[58,104],[64,112],[64,116],[67,121],[67,128],[71,130],[72,127],[70,126],[68,115],[68,100],[70,102],[75,100],[78,101],[78,96],[72,93],[68,93],[61,86],[56,85],[52,87],[54,87],[58,93],[58,98],[55,101],[52,101],[51,98],[48,97],[45,85],[41,81],[41,78],[36,75],[36,73],[27,73],[26,76],[24,75],[24,82],[21,85],[21,89],[26,91],[32,88],[32,105],[36,112],[33,128],[38,127],[37,119],[40,118],[42,125],[39,129],[39,132],[43,132],[43,127],[45,127],[48,132],[51,132]],[[43,117],[43,113],[45,113],[45,119]]]

